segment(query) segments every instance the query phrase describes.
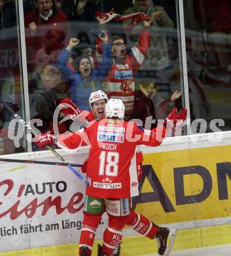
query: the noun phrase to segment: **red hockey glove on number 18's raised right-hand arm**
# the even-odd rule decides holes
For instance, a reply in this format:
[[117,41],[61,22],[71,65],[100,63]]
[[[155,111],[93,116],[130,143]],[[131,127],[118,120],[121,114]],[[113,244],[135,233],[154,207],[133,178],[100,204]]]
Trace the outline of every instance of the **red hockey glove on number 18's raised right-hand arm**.
[[187,117],[187,109],[182,108],[179,113],[177,113],[177,108],[173,108],[169,116],[164,120],[164,127],[172,127],[173,131],[175,127],[182,126],[183,122]]

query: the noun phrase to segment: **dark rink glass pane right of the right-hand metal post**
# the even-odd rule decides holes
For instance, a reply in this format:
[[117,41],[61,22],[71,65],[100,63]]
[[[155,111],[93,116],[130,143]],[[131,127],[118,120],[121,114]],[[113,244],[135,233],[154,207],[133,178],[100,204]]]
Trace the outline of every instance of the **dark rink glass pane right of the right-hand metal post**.
[[[231,2],[191,0],[184,5],[190,114],[192,121],[206,121],[192,132],[230,130]],[[213,119],[224,125],[214,129]]]

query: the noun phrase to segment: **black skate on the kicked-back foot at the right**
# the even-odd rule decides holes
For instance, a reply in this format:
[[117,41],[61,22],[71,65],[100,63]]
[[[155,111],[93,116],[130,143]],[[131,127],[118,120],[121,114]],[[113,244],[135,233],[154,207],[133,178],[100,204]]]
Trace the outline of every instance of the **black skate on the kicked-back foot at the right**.
[[[158,245],[158,255],[164,255],[164,256],[169,255],[171,251],[171,247],[173,246],[173,242],[175,240],[175,235],[176,235],[175,229],[169,230],[169,228],[158,227],[156,236],[154,237]],[[170,239],[169,244],[167,244],[168,238]]]

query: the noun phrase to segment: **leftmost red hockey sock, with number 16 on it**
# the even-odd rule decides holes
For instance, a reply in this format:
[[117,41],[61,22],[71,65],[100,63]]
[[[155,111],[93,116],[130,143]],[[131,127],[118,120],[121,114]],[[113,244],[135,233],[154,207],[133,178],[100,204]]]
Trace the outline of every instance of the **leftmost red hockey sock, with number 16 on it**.
[[[79,248],[80,247],[88,247],[90,249],[90,254],[92,254],[92,246],[94,244],[94,239],[96,236],[96,228],[94,226],[88,226],[84,224],[82,226],[80,240],[79,240]],[[80,249],[79,249],[80,251]]]

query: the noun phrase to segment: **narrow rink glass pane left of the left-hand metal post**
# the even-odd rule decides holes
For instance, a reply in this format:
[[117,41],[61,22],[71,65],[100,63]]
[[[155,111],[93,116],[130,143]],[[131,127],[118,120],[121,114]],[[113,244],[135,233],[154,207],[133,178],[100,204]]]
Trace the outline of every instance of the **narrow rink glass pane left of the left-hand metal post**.
[[[18,113],[24,115],[22,110],[22,81],[20,72],[20,54],[18,46],[18,18],[16,6],[13,1],[0,0],[0,98]],[[24,152],[26,140],[24,131],[14,132],[15,125],[10,125],[12,114],[0,104],[0,154]],[[17,127],[17,125],[16,125]],[[14,139],[17,135],[17,144]]]

